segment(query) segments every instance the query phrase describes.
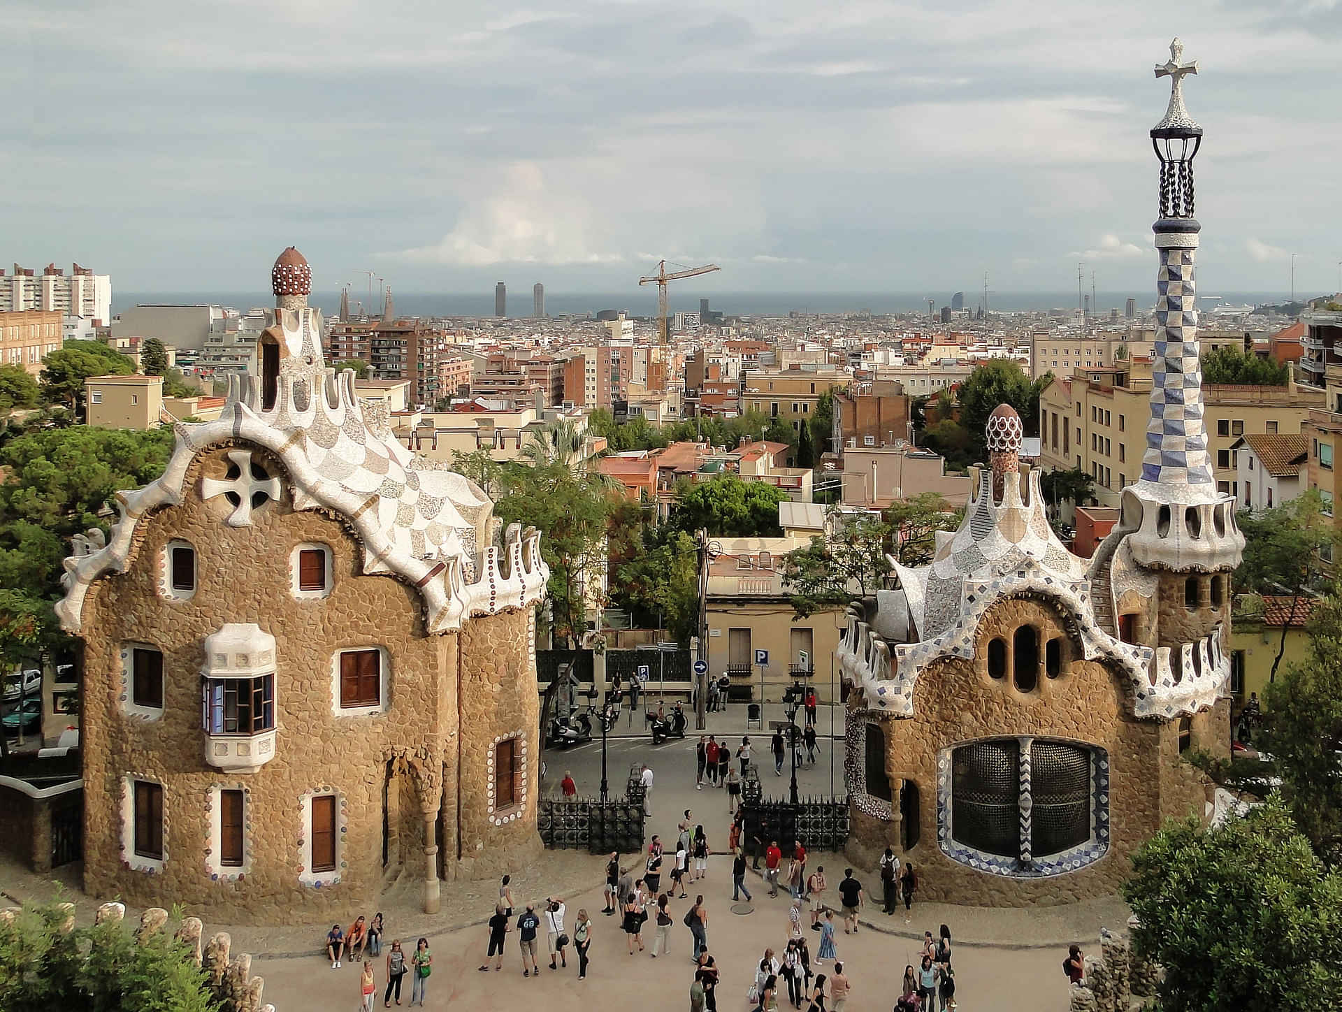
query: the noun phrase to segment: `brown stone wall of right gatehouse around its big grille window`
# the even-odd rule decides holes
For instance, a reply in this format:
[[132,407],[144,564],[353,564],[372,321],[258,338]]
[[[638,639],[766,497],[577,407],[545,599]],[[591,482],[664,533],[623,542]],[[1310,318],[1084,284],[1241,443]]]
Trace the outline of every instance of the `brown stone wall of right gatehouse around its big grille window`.
[[[886,772],[895,782],[918,788],[921,838],[906,852],[918,872],[918,898],[984,906],[1067,903],[1108,895],[1126,878],[1133,852],[1168,815],[1189,811],[1202,797],[1202,778],[1178,762],[1177,725],[1135,721],[1126,675],[1103,663],[1076,660],[1067,638],[1063,674],[1040,676],[1033,693],[1021,694],[1005,679],[988,675],[986,644],[993,636],[1011,643],[1021,624],[1067,638],[1062,616],[1033,599],[1007,599],[984,616],[973,660],[943,659],[918,678],[914,717],[886,722]],[[1170,734],[1174,737],[1170,738]],[[1016,879],[976,871],[947,858],[937,842],[937,764],[942,749],[998,736],[1056,737],[1099,745],[1110,760],[1110,847],[1094,863],[1063,875]],[[1168,742],[1174,742],[1173,758]],[[1200,804],[1196,808],[1201,812]],[[896,846],[895,823],[854,808],[848,854],[874,867],[880,851]]]

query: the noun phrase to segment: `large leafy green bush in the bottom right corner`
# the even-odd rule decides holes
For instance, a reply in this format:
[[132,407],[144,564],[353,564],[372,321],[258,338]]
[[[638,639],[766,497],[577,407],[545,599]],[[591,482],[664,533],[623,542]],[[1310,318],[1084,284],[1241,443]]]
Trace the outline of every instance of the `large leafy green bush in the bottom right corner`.
[[1342,879],[1284,805],[1170,823],[1122,886],[1137,952],[1166,968],[1164,1012],[1342,1008]]

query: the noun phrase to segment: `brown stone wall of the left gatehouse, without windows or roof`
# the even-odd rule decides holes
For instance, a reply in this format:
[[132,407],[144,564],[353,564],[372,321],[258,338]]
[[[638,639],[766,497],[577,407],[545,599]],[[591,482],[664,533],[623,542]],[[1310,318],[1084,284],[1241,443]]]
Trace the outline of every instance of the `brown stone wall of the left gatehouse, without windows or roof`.
[[[506,634],[476,635],[472,646],[460,647],[486,651],[488,678],[499,680],[474,691],[471,702],[459,707],[459,634],[425,635],[413,588],[388,576],[364,574],[362,548],[337,519],[319,511],[293,511],[287,476],[272,456],[254,450],[252,459],[285,480],[285,494],[280,502],[254,510],[252,526],[224,523],[232,511],[224,497],[199,498],[201,475],[224,476],[225,452],[213,448],[192,462],[184,502],[141,522],[127,572],[97,581],[86,603],[86,889],[137,905],[170,897],[235,922],[346,919],[366,909],[381,889],[384,791],[397,797],[389,836],[407,874],[424,875],[425,827],[433,823],[442,797],[448,801],[442,813],[444,829],[455,827],[459,710],[515,710],[513,723],[530,729],[535,754],[534,667],[522,666],[529,656],[522,643],[527,615],[483,620],[487,628]],[[187,601],[166,600],[158,591],[160,557],[170,538],[187,540],[196,549],[197,589]],[[330,546],[329,597],[294,599],[290,550],[298,542]],[[256,773],[229,773],[204,762],[203,640],[225,623],[256,623],[276,642],[275,756]],[[468,629],[475,625],[467,623]],[[150,643],[164,652],[165,698],[158,719],[122,713],[119,648],[126,642]],[[334,654],[374,646],[391,658],[385,711],[337,715]],[[505,676],[522,685],[506,693]],[[521,701],[527,693],[529,706]],[[484,723],[476,722],[466,734],[493,737],[497,731]],[[483,744],[471,740],[466,746]],[[389,764],[393,787],[386,782]],[[127,773],[164,782],[166,854],[160,874],[132,870],[121,852],[122,778]],[[248,791],[247,867],[219,880],[205,867],[212,785]],[[317,887],[299,882],[299,840],[302,799],[305,792],[319,789],[338,792],[344,831],[340,867],[330,876],[322,875]],[[534,836],[534,807],[530,827]],[[507,843],[491,840],[499,847]],[[518,851],[529,852],[527,847]],[[506,859],[507,854],[497,858]]]

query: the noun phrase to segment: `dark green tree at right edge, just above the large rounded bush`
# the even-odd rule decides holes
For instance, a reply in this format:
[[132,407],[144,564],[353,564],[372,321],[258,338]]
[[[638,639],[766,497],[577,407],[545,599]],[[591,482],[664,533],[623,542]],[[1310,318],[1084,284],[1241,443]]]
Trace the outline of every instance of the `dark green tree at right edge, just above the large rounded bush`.
[[1282,796],[1300,831],[1342,864],[1342,600],[1334,593],[1310,617],[1310,647],[1263,693],[1261,752],[1276,762]]

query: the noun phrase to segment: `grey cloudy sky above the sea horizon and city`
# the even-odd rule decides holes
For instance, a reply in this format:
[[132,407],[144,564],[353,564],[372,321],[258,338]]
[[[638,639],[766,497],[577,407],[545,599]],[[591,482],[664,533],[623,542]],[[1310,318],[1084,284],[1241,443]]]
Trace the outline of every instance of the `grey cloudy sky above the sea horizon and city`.
[[[9,0],[0,260],[121,290],[1067,290],[1153,276],[1170,36],[1200,271],[1337,287],[1339,0]],[[976,279],[978,279],[976,282]],[[1209,281],[1208,281],[1209,279]],[[711,286],[705,286],[711,287]]]

